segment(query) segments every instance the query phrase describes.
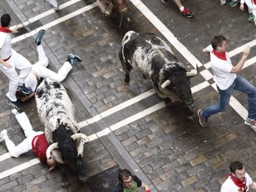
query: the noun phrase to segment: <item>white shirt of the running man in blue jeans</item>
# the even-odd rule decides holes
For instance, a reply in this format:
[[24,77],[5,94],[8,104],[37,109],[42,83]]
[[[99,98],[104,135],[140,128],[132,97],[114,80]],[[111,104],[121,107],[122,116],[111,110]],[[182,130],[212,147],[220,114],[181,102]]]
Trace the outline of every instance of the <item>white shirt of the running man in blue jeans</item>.
[[231,86],[236,79],[236,73],[231,73],[233,65],[226,52],[226,61],[218,58],[213,53],[213,47],[209,45],[207,51],[210,52],[211,69],[213,70],[213,80],[220,90],[226,90]]

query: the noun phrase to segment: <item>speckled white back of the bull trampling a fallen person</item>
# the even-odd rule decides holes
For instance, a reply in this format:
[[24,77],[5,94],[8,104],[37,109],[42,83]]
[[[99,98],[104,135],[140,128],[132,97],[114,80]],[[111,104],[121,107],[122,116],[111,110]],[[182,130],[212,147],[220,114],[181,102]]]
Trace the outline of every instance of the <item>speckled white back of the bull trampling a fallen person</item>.
[[[39,119],[45,125],[45,132],[50,133],[58,125],[59,119],[65,120],[72,127],[77,123],[74,119],[74,106],[66,89],[61,83],[49,79],[43,80],[35,93],[36,108]],[[47,138],[51,141],[51,136]]]

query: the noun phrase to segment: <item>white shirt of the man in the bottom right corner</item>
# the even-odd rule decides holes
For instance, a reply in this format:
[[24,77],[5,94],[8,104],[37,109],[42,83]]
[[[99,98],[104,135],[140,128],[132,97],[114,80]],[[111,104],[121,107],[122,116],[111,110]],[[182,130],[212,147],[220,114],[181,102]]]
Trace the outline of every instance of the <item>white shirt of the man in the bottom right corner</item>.
[[[247,173],[245,173],[245,178],[245,185],[247,186],[246,191],[249,191],[249,185],[252,185],[252,178],[250,178],[250,176]],[[239,186],[236,186],[236,184],[234,184],[231,177],[228,177],[226,181],[221,185],[221,192],[236,192],[239,189]]]

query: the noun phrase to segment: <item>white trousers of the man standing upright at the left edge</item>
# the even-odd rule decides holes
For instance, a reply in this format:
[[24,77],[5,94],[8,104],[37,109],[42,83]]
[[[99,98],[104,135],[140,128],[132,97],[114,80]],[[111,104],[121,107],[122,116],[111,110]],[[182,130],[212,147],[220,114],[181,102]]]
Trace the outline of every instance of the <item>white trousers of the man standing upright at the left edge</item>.
[[[27,77],[32,69],[32,64],[14,49],[12,49],[12,56],[6,63],[12,65],[11,69],[0,65],[0,70],[9,78],[9,91],[6,93],[6,96],[11,101],[17,101],[15,96],[17,87],[18,85],[23,85],[25,77]],[[20,70],[19,75],[15,69]]]

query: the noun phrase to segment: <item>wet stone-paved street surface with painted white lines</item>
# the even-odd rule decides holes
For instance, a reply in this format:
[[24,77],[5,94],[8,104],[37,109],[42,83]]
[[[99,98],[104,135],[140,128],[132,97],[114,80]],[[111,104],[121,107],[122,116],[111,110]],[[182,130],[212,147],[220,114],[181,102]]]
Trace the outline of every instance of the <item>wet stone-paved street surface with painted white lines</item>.
[[[218,95],[202,49],[215,35],[226,36],[233,64],[241,57],[241,46],[252,46],[250,62],[241,75],[256,86],[256,33],[254,23],[247,22],[247,9],[220,6],[217,0],[187,0],[182,3],[195,13],[194,18],[187,19],[171,1],[167,5],[160,1],[128,1],[130,22],[124,20],[119,28],[120,18],[105,17],[93,1],[58,2],[61,10],[54,12],[46,1],[2,0],[0,12],[11,15],[12,25],[36,17],[46,30],[42,44],[49,57],[49,69],[57,71],[70,52],[82,57],[83,61],[74,66],[63,85],[75,102],[82,132],[88,136],[96,133],[95,140],[85,144],[83,154],[89,179],[81,183],[77,174],[68,169],[71,185],[62,189],[58,169],[48,172],[47,165],[36,160],[33,163],[33,152],[4,159],[7,149],[1,143],[0,191],[108,192],[113,191],[120,167],[132,170],[150,185],[151,191],[220,191],[233,160],[242,161],[255,179],[255,132],[243,120],[246,95],[235,91],[228,111],[213,115],[208,128],[202,128],[197,119],[187,119],[188,109],[181,102],[164,106],[151,90],[150,81],[136,70],[130,75],[130,85],[125,86],[118,58],[126,31],[155,33],[168,41],[187,69],[199,65],[200,74],[191,79],[194,106],[207,107],[217,101]],[[83,7],[88,10],[78,12]],[[39,18],[40,14],[45,15]],[[32,63],[37,61],[35,34],[32,31],[22,40],[13,37],[12,44]],[[19,144],[25,136],[6,104],[9,81],[0,74],[0,130],[6,128],[11,140]],[[34,99],[23,103],[22,109],[33,128],[43,130]]]

